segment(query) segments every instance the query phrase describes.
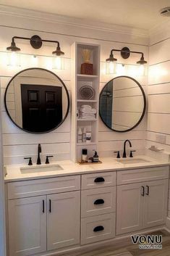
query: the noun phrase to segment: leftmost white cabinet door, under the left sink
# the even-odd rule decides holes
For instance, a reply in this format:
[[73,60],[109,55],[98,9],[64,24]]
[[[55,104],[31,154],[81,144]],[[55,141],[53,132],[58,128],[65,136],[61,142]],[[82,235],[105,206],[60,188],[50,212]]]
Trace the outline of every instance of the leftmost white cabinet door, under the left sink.
[[9,255],[46,251],[46,196],[9,200]]

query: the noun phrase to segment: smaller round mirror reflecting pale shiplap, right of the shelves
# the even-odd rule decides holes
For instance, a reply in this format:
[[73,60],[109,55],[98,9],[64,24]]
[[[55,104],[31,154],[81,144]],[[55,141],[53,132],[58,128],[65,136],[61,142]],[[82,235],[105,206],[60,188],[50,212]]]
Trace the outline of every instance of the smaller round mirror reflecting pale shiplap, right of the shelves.
[[113,131],[135,128],[143,119],[146,98],[142,86],[128,76],[119,76],[106,83],[99,100],[103,123]]

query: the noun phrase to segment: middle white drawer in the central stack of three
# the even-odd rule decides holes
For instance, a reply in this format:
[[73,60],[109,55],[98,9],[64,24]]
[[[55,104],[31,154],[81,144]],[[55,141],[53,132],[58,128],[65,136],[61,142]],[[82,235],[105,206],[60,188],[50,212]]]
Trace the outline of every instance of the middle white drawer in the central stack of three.
[[116,211],[116,186],[83,190],[81,196],[82,217]]

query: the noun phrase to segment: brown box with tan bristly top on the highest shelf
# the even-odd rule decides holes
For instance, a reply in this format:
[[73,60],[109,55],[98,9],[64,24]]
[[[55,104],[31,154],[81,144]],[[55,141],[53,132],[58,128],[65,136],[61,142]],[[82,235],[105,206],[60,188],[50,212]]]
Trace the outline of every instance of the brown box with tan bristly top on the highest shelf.
[[90,63],[90,49],[82,49],[82,58],[84,63],[81,65],[81,74],[93,75],[93,64]]

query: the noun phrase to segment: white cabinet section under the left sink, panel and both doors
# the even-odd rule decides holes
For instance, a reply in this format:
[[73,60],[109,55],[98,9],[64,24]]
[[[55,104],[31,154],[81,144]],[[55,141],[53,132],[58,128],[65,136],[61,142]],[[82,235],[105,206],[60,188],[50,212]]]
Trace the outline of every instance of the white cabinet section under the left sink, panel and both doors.
[[[79,189],[80,176],[9,183],[9,256],[79,244]],[[50,194],[53,191],[63,193]]]

